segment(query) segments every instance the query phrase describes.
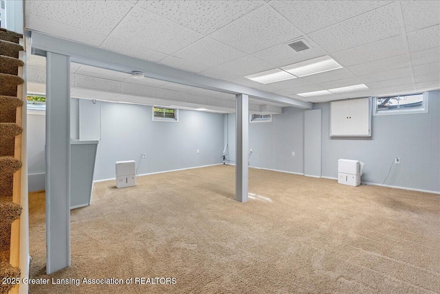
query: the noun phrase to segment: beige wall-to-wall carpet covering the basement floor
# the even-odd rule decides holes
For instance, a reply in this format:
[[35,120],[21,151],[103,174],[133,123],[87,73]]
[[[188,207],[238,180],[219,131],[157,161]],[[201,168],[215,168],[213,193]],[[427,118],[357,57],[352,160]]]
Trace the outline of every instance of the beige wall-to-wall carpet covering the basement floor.
[[72,267],[52,275],[44,193],[30,194],[32,278],[176,282],[30,293],[440,292],[439,195],[250,169],[254,195],[238,203],[234,177],[212,166],[97,183],[72,211]]

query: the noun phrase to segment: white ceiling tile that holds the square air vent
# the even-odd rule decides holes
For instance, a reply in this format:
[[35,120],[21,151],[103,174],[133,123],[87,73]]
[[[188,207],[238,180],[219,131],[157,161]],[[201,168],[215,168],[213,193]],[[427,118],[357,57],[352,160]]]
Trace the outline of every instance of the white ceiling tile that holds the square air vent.
[[[318,45],[309,40],[309,38],[305,38],[305,41],[311,46],[310,49],[296,52],[288,44],[283,43],[264,49],[260,52],[256,52],[252,54],[252,56],[277,67],[284,67],[285,65],[292,65],[292,63],[299,63],[300,61],[327,55],[327,52],[318,47]],[[294,41],[289,41],[288,43],[292,42]]]

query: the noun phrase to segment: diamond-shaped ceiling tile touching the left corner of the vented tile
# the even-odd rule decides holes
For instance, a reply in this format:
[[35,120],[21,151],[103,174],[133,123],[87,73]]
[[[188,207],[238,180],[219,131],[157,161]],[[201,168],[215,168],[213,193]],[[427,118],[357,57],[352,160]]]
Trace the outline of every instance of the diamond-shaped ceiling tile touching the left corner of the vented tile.
[[246,54],[239,52],[237,49],[208,37],[192,43],[188,47],[173,54],[173,56],[207,65],[208,67],[228,63],[231,60],[241,58],[245,55]]

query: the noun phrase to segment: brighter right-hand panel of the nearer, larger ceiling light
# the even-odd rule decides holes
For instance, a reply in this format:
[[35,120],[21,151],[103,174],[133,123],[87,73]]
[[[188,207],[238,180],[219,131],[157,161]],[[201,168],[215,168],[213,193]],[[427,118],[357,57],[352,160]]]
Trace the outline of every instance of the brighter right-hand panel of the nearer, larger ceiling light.
[[334,69],[342,69],[342,66],[333,60],[330,56],[321,56],[318,58],[301,61],[294,65],[286,65],[281,67],[284,71],[289,72],[298,77],[310,76],[312,74],[320,74],[325,71],[333,71]]

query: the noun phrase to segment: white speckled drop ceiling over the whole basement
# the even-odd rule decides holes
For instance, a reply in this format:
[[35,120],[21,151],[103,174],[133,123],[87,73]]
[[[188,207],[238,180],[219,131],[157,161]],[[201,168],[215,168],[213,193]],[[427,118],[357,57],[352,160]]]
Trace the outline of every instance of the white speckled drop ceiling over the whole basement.
[[[25,26],[307,102],[440,89],[440,1],[39,0],[25,1]],[[289,47],[298,39],[310,49]],[[342,68],[270,84],[244,78],[325,55]],[[36,84],[44,80],[43,67],[30,57],[29,76]],[[218,110],[234,108],[230,94],[152,79],[133,81],[127,74],[86,65],[72,65],[72,71],[73,95],[104,92],[113,93],[107,97],[114,100],[132,96],[141,102],[144,95],[182,106],[209,98]],[[369,89],[297,95],[355,84]],[[251,102],[254,111],[261,104],[273,106],[274,113],[284,106]]]

